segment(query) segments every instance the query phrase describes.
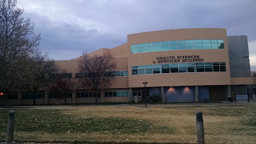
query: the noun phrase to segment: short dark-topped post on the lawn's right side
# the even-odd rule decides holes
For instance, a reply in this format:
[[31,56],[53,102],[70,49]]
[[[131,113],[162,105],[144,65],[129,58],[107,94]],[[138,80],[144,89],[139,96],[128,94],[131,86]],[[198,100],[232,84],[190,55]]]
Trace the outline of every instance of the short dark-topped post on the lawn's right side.
[[195,115],[197,116],[197,143],[204,144],[203,113],[200,111],[197,111]]

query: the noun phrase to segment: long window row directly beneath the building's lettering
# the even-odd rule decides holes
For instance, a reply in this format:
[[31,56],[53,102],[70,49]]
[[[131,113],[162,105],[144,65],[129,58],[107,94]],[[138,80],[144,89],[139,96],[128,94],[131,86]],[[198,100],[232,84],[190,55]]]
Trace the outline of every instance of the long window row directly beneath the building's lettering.
[[139,65],[139,66],[132,67],[132,75],[159,74],[159,73],[217,72],[217,71],[226,71],[225,62]]

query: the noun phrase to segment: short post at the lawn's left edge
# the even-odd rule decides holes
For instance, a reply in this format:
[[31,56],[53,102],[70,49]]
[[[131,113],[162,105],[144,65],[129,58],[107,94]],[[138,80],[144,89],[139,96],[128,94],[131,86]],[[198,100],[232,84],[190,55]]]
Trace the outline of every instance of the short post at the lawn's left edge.
[[15,112],[14,112],[14,110],[11,110],[9,112],[8,126],[7,126],[7,138],[6,138],[7,144],[14,143],[13,142],[14,122],[15,122]]

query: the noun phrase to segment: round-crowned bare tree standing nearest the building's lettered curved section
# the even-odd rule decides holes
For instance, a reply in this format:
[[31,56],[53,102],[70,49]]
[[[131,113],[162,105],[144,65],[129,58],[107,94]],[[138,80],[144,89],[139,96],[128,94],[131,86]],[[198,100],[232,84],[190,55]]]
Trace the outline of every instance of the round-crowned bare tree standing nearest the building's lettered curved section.
[[114,77],[111,71],[116,67],[116,62],[112,55],[89,55],[83,53],[79,59],[79,69],[84,74],[79,81],[88,91],[96,94],[95,102],[97,104],[97,94],[101,89],[111,86]]

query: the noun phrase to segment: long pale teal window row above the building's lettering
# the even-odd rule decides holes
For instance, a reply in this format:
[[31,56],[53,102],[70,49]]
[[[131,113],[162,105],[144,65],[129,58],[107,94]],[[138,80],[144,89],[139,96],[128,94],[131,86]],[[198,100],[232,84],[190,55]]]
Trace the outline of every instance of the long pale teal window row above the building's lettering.
[[224,49],[224,40],[179,40],[132,44],[132,53],[186,49]]

